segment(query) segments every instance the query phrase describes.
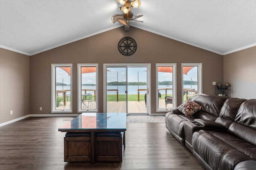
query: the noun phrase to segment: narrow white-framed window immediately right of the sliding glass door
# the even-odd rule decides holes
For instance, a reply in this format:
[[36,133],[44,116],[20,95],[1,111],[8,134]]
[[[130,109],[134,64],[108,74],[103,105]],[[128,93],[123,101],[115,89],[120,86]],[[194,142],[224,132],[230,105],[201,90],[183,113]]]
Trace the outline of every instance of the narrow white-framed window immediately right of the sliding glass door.
[[156,64],[157,111],[176,107],[176,64]]

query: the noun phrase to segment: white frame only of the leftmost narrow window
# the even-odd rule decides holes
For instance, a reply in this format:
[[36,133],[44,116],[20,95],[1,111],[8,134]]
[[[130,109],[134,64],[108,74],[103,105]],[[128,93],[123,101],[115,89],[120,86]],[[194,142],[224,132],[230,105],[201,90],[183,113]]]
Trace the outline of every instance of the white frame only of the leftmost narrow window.
[[[70,67],[70,109],[68,110],[57,110],[56,109],[56,67]],[[51,113],[72,113],[72,64],[51,64]]]

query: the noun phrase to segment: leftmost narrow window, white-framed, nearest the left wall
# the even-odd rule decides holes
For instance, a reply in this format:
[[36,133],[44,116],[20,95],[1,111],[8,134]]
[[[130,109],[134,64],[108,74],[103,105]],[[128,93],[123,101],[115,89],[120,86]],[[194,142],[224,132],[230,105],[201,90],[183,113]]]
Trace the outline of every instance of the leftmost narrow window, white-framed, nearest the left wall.
[[52,64],[53,112],[72,112],[72,64]]

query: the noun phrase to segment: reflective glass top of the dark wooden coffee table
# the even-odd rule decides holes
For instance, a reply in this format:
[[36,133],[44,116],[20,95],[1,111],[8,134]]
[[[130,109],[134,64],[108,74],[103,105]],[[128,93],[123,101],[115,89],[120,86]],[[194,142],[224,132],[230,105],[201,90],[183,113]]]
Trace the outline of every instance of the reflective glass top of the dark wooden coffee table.
[[59,131],[68,129],[126,130],[126,113],[82,113],[59,128]]

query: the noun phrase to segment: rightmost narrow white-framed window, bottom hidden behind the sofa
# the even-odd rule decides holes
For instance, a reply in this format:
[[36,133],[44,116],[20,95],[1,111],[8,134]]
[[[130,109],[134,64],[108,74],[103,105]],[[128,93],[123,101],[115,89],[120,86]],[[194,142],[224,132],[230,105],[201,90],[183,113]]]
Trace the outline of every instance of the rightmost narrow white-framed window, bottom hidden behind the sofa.
[[183,102],[202,93],[202,63],[182,63]]

